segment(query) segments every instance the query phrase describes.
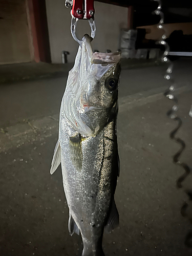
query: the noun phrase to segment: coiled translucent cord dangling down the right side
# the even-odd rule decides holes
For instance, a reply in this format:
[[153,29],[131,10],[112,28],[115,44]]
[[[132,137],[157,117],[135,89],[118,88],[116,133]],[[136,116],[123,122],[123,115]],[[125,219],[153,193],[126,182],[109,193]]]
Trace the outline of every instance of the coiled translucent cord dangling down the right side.
[[[166,39],[166,31],[165,31],[165,28],[164,28],[164,14],[162,12],[162,4],[161,4],[161,0],[153,0],[154,2],[157,2],[158,3],[158,7],[157,9],[154,11],[154,13],[156,15],[159,15],[160,16],[160,21],[157,25],[157,28],[162,30],[163,31],[163,35],[161,37],[161,39],[157,42],[158,44],[164,46],[164,52],[163,52],[163,55],[161,57],[161,60],[162,62],[167,62],[168,63],[168,68],[166,70],[166,74],[164,76],[164,78],[170,82],[170,86],[169,88],[164,92],[164,95],[170,99],[170,100],[173,100],[174,102],[174,105],[172,107],[172,109],[168,110],[167,111],[167,116],[171,119],[173,119],[174,121],[177,122],[177,127],[172,131],[170,132],[169,136],[170,136],[170,139],[174,140],[175,142],[179,143],[180,144],[180,149],[179,151],[173,156],[173,162],[179,166],[181,166],[185,173],[177,180],[177,187],[178,188],[182,188],[182,182],[185,180],[185,178],[190,174],[191,172],[191,168],[184,162],[180,162],[179,159],[181,157],[181,154],[183,153],[183,151],[185,150],[185,142],[179,138],[179,137],[176,137],[176,134],[178,132],[178,130],[180,129],[180,127],[182,126],[182,120],[181,118],[177,115],[177,111],[178,111],[178,99],[177,97],[174,95],[174,91],[175,91],[175,88],[176,88],[176,84],[175,84],[175,81],[172,77],[172,73],[173,73],[173,62],[170,61],[167,56],[169,54],[169,46],[167,44],[167,42],[165,41]],[[185,193],[187,194],[188,196],[188,200],[192,200],[192,190],[184,190]],[[183,217],[187,217],[190,221],[190,223],[192,224],[192,218],[189,217],[186,213],[186,210],[188,208],[188,203],[185,202],[183,204],[183,206],[181,207],[181,215]],[[189,231],[185,237],[185,245],[187,247],[192,247],[192,231]]]

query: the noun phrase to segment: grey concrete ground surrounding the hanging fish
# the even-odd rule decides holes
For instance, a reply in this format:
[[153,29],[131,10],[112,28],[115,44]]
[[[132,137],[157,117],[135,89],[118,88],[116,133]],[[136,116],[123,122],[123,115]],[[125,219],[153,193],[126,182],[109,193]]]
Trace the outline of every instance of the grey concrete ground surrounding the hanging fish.
[[[186,144],[181,158],[192,166],[191,59],[175,62],[175,78]],[[191,189],[176,180],[183,170],[172,163],[178,144],[168,138],[176,126],[166,117],[173,102],[162,92],[165,67],[122,70],[119,89],[120,177],[116,204],[120,226],[104,234],[110,255],[189,256],[192,229],[180,208]],[[58,137],[58,113],[66,76],[0,86],[0,255],[81,255],[81,238],[69,236],[68,207],[60,167],[49,173]],[[191,204],[189,203],[189,215]]]

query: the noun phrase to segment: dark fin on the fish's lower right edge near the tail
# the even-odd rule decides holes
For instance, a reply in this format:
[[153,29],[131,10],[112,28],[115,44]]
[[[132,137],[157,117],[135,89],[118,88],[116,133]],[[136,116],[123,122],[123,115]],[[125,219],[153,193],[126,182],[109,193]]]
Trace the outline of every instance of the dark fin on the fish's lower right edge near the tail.
[[110,233],[114,228],[118,226],[119,226],[119,213],[117,210],[117,206],[115,204],[115,200],[113,199],[110,216],[109,216],[108,222],[104,227],[104,231],[106,233]]

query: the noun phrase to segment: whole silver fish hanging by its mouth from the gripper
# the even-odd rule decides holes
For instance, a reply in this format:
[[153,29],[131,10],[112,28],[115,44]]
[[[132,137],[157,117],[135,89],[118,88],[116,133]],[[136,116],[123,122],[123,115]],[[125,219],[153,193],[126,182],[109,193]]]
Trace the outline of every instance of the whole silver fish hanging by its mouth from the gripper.
[[116,120],[120,53],[92,51],[84,35],[60,106],[51,174],[61,163],[68,228],[81,234],[82,256],[104,256],[103,231],[119,225],[114,200],[119,176]]

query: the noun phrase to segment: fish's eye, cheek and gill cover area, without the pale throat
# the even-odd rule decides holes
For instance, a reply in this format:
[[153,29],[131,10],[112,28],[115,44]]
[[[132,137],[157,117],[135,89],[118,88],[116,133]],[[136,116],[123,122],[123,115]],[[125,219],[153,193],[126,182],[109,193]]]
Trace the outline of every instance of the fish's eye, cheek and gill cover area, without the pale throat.
[[[100,66],[99,69],[97,66]],[[80,95],[80,117],[91,129],[92,136],[108,123],[118,111],[118,86],[120,78],[120,62],[96,63],[93,72],[87,77]],[[95,71],[106,70],[102,76]]]

